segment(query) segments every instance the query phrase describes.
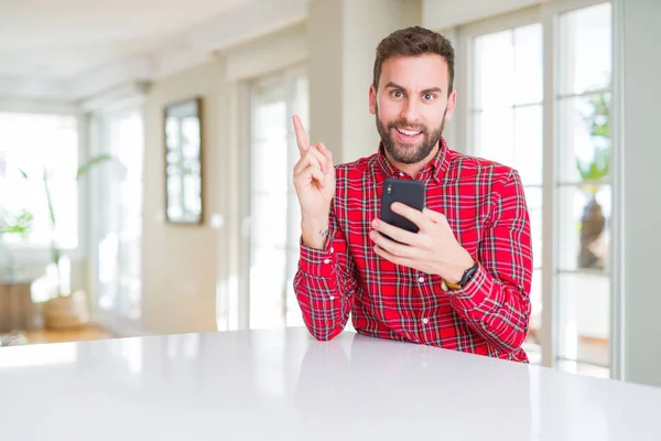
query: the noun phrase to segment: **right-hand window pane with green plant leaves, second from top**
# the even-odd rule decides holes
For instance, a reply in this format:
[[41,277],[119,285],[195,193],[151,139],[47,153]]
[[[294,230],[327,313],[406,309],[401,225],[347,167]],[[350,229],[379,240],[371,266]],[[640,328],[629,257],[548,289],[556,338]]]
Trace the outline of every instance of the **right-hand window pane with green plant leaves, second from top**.
[[560,100],[559,176],[561,182],[609,178],[610,94]]

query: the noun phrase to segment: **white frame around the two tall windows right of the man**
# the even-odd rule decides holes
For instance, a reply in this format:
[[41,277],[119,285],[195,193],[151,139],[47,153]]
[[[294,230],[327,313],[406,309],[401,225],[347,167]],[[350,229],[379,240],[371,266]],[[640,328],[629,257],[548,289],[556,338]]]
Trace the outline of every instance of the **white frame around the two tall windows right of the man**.
[[[542,60],[543,60],[543,95],[542,95],[542,158],[544,164],[542,180],[542,201],[543,201],[543,217],[542,217],[542,329],[541,329],[541,365],[546,367],[557,366],[562,361],[559,359],[559,304],[556,293],[556,270],[559,268],[557,260],[557,240],[559,222],[555,218],[555,207],[559,204],[560,191],[559,180],[556,179],[557,158],[560,148],[559,141],[559,116],[557,116],[557,98],[561,96],[559,88],[560,80],[560,15],[566,12],[572,12],[578,9],[588,8],[596,4],[610,3],[613,1],[605,0],[556,0],[548,3],[542,3],[516,12],[507,13],[496,18],[489,18],[475,23],[469,23],[451,30],[453,35],[456,35],[457,47],[457,66],[456,66],[456,83],[457,89],[464,96],[457,100],[456,109],[456,140],[457,146],[465,148],[466,153],[475,153],[475,142],[473,139],[473,101],[475,78],[473,77],[473,61],[474,61],[474,39],[499,31],[509,30],[512,28],[524,26],[533,23],[542,25]],[[613,23],[615,25],[615,21]],[[616,35],[616,29],[613,30],[613,35]],[[613,50],[617,54],[617,39],[613,37]],[[613,126],[613,143],[611,143],[611,163],[618,158],[618,149],[620,143],[617,140],[617,106],[618,96],[617,87],[617,58],[613,58],[613,109],[611,114]],[[621,249],[621,196],[616,190],[621,185],[621,171],[617,166],[611,166],[611,175],[609,182],[613,191],[613,213],[610,234],[610,261],[608,267],[611,269],[610,279],[610,323],[609,323],[609,346],[610,346],[610,363],[609,370],[611,378],[622,377],[622,338],[621,334],[621,314],[622,314],[622,294],[621,294],[621,261],[619,260],[619,250]]]

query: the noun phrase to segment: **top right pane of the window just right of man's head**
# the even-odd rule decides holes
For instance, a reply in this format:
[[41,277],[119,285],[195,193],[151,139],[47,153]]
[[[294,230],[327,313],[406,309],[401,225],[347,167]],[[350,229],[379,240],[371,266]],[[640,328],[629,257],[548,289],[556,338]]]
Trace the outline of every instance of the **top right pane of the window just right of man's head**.
[[514,29],[514,104],[541,103],[542,24]]

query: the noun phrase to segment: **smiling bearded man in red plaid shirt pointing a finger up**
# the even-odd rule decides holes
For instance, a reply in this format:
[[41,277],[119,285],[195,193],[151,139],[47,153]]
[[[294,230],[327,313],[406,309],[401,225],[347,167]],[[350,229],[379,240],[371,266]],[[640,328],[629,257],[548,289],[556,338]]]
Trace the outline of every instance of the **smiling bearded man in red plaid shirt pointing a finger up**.
[[[351,313],[360,334],[528,363],[521,346],[532,251],[523,187],[516,170],[446,146],[453,79],[449,41],[409,28],[377,49],[369,88],[381,137],[376,154],[334,168],[330,151],[310,146],[294,117],[302,214],[296,298],[322,341],[339,334]],[[392,206],[419,233],[378,218],[387,178],[424,182],[423,212]]]

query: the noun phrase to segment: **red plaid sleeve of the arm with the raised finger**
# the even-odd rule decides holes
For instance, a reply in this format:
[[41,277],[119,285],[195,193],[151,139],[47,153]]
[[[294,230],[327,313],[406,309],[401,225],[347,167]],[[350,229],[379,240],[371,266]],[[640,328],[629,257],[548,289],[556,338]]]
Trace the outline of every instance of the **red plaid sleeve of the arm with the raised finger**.
[[319,341],[338,335],[347,324],[358,289],[356,269],[347,241],[330,214],[324,249],[301,241],[294,292],[310,333]]

